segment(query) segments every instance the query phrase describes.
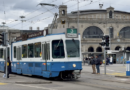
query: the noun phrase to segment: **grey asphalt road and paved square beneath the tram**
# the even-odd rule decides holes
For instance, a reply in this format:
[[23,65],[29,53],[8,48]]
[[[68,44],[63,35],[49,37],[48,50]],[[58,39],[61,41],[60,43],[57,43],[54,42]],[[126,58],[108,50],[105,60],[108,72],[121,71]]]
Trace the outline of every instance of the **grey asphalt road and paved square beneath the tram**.
[[[104,68],[103,66],[100,67]],[[124,72],[122,65],[107,66],[108,73]],[[113,71],[112,71],[113,70]],[[103,70],[101,71],[103,73]],[[37,76],[12,74],[9,79],[2,78],[1,90],[130,90],[130,78],[117,78],[114,75],[91,74],[91,66],[83,66],[81,78],[72,81],[57,81]],[[16,83],[28,82],[28,83]],[[33,84],[29,83],[33,82]],[[42,82],[41,84],[39,82]]]

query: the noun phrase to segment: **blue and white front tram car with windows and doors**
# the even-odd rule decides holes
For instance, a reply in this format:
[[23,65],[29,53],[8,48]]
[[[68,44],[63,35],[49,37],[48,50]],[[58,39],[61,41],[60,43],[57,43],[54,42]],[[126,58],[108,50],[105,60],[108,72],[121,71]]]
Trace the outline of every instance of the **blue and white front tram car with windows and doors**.
[[10,50],[13,73],[62,79],[80,77],[80,35],[74,39],[66,38],[65,33],[30,38],[12,43]]

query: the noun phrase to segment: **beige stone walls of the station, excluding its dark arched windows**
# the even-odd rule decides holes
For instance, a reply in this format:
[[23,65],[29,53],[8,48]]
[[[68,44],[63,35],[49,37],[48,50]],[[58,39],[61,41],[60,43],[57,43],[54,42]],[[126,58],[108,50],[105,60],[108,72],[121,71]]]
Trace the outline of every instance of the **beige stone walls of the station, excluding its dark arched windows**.
[[[60,28],[78,28],[77,24],[77,11],[67,13],[67,6],[61,5],[59,7],[59,18],[57,19],[57,29]],[[61,22],[65,21],[65,24]],[[113,7],[107,9],[95,9],[95,10],[80,10],[79,11],[79,33],[81,35],[82,53],[87,56],[89,47],[93,47],[94,51],[90,53],[96,53],[96,49],[101,47],[99,42],[101,38],[86,38],[84,32],[89,27],[99,28],[103,34],[110,35],[110,28],[113,29],[113,37],[110,40],[111,50],[115,50],[119,47],[130,47],[130,38],[121,37],[120,33],[124,27],[130,27],[130,12],[118,11]],[[130,30],[130,28],[129,28]],[[130,32],[129,32],[130,33]],[[124,35],[124,34],[123,34]],[[102,47],[101,47],[102,48]],[[103,52],[100,51],[101,53]]]

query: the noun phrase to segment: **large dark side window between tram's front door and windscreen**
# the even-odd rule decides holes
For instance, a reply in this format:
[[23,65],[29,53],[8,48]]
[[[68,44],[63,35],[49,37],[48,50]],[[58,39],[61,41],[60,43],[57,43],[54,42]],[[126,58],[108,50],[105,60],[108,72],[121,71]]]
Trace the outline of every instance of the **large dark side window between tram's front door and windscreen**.
[[52,57],[53,58],[65,57],[63,40],[52,41]]

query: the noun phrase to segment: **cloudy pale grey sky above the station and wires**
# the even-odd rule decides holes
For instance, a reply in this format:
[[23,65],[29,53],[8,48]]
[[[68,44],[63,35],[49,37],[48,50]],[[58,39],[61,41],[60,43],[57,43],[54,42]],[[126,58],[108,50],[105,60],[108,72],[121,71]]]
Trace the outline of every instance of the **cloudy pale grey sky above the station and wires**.
[[[15,29],[29,30],[29,27],[44,29],[53,20],[54,13],[58,13],[58,8],[40,6],[39,3],[51,3],[57,6],[64,4],[68,7],[68,13],[77,10],[77,0],[0,0],[0,24],[6,21],[6,26]],[[112,6],[115,10],[130,12],[130,0],[79,0],[80,10],[99,9],[99,3],[103,4],[103,9]],[[48,11],[49,9],[52,9]],[[4,14],[5,11],[5,14]],[[20,16],[25,16],[22,22]]]

